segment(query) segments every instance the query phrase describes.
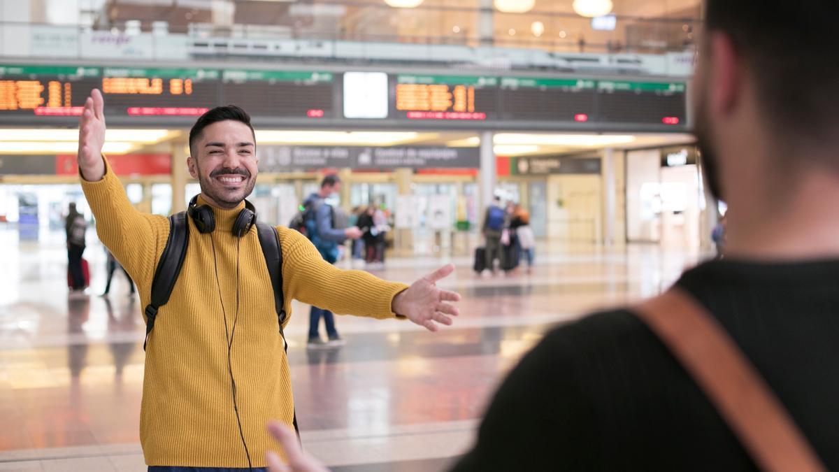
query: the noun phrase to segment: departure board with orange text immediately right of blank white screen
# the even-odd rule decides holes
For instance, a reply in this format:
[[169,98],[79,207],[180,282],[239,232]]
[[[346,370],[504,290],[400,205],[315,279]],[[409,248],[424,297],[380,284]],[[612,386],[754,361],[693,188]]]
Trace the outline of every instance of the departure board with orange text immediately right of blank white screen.
[[498,78],[396,76],[392,116],[407,119],[487,120],[495,117]]

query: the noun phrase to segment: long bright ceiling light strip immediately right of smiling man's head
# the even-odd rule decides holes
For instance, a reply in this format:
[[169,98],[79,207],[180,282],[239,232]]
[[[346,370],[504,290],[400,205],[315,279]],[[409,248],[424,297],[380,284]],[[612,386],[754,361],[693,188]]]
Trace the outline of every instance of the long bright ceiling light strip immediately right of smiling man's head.
[[257,130],[257,144],[398,144],[416,139],[418,133],[368,131]]

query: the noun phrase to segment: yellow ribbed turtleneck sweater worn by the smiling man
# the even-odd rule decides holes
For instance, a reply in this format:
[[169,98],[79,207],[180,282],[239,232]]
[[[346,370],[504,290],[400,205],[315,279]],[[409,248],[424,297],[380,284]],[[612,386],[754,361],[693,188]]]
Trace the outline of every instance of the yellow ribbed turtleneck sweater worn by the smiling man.
[[[169,220],[136,211],[107,160],[102,180],[82,180],[82,188],[96,216],[96,233],[137,283],[145,307],[169,236]],[[146,350],[140,412],[146,464],[248,467],[233,412],[225,316],[229,330],[236,323],[232,373],[254,467],[265,466],[268,449],[280,452],[265,430],[268,420],[291,424],[294,399],[289,363],[256,228],[240,240],[231,233],[242,207],[214,208],[216,230],[211,234],[201,234],[189,223],[190,243],[183,268],[169,303],[158,312]],[[395,317],[393,297],[407,286],[366,272],[338,270],[326,263],[302,234],[277,229],[289,318],[292,299],[336,313]]]

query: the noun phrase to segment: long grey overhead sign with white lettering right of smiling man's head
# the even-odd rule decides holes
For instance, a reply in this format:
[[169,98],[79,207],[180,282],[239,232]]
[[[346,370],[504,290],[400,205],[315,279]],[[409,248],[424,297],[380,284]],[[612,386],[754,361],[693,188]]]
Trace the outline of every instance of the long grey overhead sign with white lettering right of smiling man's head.
[[477,169],[478,148],[442,146],[276,146],[258,145],[261,172],[345,169]]

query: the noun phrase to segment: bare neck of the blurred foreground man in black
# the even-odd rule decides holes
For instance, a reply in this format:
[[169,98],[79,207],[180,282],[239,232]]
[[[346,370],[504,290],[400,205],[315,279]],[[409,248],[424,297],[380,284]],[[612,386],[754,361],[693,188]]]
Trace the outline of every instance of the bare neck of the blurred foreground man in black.
[[[812,171],[798,181],[794,188],[775,187],[776,192],[789,192],[783,202],[732,202],[726,228],[729,258],[839,259],[839,176]],[[769,194],[773,189],[765,190]]]

